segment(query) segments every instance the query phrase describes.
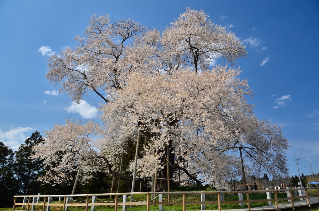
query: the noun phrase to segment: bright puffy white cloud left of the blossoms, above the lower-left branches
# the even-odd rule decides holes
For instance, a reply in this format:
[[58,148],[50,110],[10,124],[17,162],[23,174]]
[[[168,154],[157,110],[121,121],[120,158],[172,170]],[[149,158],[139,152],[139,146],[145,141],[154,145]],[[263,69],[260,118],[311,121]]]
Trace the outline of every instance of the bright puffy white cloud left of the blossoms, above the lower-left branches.
[[77,104],[75,102],[71,103],[70,107],[65,108],[68,113],[79,113],[82,118],[93,118],[96,117],[98,110],[88,104],[85,100],[80,100],[80,103]]

